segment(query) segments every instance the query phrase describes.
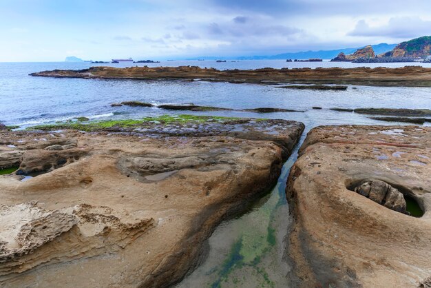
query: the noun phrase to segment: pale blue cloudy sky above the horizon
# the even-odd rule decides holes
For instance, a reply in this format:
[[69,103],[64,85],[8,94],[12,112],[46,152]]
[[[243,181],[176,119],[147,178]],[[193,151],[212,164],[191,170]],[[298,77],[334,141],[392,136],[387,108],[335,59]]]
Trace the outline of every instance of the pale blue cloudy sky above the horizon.
[[429,0],[0,0],[0,61],[187,59],[399,43]]

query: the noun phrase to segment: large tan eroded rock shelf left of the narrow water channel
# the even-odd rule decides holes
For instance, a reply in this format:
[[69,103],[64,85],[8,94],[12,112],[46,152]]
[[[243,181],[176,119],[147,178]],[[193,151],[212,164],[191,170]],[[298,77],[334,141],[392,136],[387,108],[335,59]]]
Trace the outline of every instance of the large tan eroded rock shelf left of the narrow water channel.
[[202,260],[216,225],[275,185],[304,129],[253,119],[156,122],[0,133],[14,146],[1,146],[0,161],[19,161],[20,174],[33,176],[0,176],[1,287],[177,282]]

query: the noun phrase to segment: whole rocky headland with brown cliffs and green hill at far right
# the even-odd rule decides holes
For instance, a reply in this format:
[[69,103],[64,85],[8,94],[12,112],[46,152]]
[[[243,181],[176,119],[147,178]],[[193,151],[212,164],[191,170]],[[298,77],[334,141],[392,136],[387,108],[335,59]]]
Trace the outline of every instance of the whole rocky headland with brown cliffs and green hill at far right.
[[392,62],[429,62],[431,37],[424,36],[399,43],[388,52],[376,54],[371,45],[359,48],[352,54],[340,52],[333,62],[353,63],[392,63]]

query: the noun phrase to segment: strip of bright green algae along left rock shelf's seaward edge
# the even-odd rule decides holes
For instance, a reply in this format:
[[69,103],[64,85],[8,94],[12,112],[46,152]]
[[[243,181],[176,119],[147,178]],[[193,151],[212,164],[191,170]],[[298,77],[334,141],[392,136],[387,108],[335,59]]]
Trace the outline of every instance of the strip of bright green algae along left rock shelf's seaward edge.
[[[27,128],[28,130],[80,130],[86,132],[92,132],[97,130],[106,130],[109,128],[133,128],[139,127],[146,123],[160,123],[167,125],[170,123],[187,124],[187,123],[205,123],[205,122],[229,122],[238,121],[241,118],[235,117],[223,117],[223,116],[196,116],[189,114],[181,115],[162,115],[156,117],[145,117],[143,119],[127,119],[127,120],[106,120],[106,121],[92,121],[87,123],[76,123],[76,122],[61,122],[48,125],[36,125]],[[253,121],[262,121],[263,119],[253,119]]]

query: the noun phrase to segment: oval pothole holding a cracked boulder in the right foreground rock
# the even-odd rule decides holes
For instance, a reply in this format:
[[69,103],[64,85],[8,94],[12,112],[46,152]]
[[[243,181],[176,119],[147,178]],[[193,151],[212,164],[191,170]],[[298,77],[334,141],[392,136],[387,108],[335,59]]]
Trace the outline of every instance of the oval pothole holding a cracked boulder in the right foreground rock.
[[406,188],[393,187],[384,181],[373,180],[348,185],[347,189],[396,212],[413,217],[423,216],[423,209],[412,196],[412,192]]

